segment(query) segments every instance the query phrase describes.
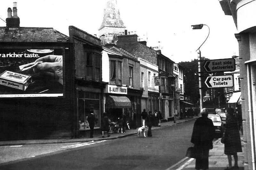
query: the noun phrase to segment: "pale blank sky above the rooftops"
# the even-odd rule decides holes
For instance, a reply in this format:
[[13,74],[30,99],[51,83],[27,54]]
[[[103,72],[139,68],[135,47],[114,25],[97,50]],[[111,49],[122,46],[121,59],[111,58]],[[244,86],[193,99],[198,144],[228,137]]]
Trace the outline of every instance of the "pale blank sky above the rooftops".
[[[17,2],[21,27],[52,27],[68,35],[75,26],[99,37],[107,0],[4,0],[0,18],[7,18],[8,7]],[[71,3],[72,2],[72,3]],[[147,46],[157,47],[175,63],[197,59],[197,48],[210,34],[200,51],[208,59],[239,55],[232,16],[221,9],[219,0],[117,0],[120,16],[128,31],[146,35]],[[200,30],[191,25],[205,24]],[[6,23],[0,20],[0,26]]]

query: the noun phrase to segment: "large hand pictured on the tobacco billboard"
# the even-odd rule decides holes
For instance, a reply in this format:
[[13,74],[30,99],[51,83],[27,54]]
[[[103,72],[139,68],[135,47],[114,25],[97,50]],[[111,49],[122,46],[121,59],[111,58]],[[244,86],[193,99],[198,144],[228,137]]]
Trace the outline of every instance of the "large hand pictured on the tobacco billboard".
[[62,55],[46,55],[36,59],[35,63],[36,62],[43,63],[38,63],[36,67],[33,68],[34,72],[43,72],[63,85]]

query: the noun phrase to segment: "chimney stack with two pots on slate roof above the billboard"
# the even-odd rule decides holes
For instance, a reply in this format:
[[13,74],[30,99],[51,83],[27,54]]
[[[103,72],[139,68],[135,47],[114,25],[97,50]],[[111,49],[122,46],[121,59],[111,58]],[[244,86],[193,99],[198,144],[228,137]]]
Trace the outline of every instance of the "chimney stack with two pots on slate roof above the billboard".
[[[13,11],[13,16],[12,16]],[[13,3],[13,8],[7,9],[6,28],[20,28],[20,18],[17,14],[17,3]]]

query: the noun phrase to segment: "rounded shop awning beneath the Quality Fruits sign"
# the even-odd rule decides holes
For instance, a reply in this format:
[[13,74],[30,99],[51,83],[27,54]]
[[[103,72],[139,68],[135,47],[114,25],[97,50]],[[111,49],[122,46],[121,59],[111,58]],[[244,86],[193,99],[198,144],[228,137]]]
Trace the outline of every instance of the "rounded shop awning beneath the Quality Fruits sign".
[[131,101],[126,96],[107,96],[106,106],[108,108],[130,108]]

